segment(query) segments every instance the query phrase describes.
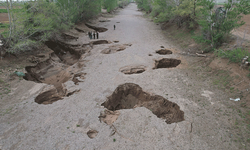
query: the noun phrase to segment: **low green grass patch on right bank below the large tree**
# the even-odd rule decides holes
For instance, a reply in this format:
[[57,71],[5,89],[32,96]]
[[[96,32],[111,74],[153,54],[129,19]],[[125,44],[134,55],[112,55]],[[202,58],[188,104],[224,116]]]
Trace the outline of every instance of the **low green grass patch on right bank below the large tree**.
[[250,53],[244,49],[237,48],[233,50],[215,50],[218,57],[228,58],[230,62],[239,63],[245,56],[250,56]]

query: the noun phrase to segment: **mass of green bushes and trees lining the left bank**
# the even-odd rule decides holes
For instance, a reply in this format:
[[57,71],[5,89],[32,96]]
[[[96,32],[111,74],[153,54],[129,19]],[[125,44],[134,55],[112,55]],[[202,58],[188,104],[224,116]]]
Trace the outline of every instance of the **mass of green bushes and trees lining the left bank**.
[[[2,35],[6,38],[7,52],[20,53],[38,49],[55,33],[70,29],[75,23],[88,21],[101,13],[102,7],[108,12],[117,7],[124,7],[130,0],[37,0],[18,3],[2,3],[9,12],[10,24],[1,25],[9,28]],[[16,8],[16,9],[14,9]]]

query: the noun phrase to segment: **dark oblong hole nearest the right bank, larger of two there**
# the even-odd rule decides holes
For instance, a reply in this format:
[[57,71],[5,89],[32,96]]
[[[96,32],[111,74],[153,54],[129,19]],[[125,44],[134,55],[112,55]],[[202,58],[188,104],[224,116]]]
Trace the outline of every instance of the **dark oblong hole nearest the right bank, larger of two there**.
[[158,68],[173,68],[177,67],[181,63],[181,60],[173,58],[162,58],[160,60],[155,60],[154,69]]

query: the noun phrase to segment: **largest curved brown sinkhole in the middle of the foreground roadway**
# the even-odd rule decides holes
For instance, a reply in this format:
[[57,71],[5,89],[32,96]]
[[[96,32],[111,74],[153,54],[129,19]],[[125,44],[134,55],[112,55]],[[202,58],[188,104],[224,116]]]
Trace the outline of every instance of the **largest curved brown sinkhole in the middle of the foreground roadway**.
[[158,118],[164,119],[167,124],[184,120],[184,112],[176,103],[159,95],[150,95],[133,83],[119,85],[102,106],[111,111],[145,107]]

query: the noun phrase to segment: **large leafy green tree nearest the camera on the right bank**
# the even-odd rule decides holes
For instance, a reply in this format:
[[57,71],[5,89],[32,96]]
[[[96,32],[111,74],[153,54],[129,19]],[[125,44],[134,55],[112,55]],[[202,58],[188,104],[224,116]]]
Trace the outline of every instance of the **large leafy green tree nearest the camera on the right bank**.
[[214,0],[198,0],[198,5],[201,7],[198,23],[203,31],[198,39],[211,44],[213,48],[224,42],[234,28],[244,24],[241,21],[243,14],[250,13],[250,0],[228,0],[223,8],[216,10]]

